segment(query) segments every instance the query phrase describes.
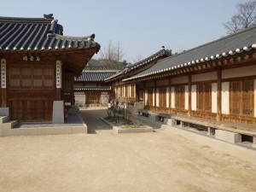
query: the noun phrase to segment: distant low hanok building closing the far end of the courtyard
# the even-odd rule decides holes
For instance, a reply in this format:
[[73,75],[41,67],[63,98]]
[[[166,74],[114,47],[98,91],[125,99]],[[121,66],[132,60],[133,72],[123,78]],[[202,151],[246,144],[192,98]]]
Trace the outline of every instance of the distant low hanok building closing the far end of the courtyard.
[[108,100],[114,99],[114,92],[104,79],[114,75],[123,67],[86,66],[79,77],[75,77],[75,102],[80,107],[106,106]]

